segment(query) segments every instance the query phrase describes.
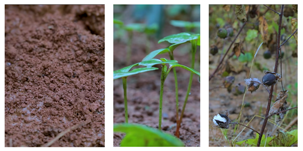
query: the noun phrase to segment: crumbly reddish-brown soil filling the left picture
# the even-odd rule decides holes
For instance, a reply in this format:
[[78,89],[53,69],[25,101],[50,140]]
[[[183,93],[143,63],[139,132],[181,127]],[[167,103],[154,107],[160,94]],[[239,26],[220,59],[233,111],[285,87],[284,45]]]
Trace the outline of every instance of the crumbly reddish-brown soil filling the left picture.
[[5,7],[5,146],[104,146],[104,9]]

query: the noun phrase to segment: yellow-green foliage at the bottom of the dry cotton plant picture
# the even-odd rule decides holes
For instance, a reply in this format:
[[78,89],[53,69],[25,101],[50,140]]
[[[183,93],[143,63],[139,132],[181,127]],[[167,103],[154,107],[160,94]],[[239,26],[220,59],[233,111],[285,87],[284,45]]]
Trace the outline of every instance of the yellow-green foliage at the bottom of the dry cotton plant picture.
[[[236,144],[241,146],[257,146],[258,139],[259,139],[259,134],[257,133],[255,139],[238,141],[236,142]],[[267,147],[291,146],[292,144],[297,143],[297,140],[298,140],[297,130],[292,130],[290,132],[279,131],[278,136],[265,138],[265,135],[263,134],[260,146],[264,146],[264,145]]]

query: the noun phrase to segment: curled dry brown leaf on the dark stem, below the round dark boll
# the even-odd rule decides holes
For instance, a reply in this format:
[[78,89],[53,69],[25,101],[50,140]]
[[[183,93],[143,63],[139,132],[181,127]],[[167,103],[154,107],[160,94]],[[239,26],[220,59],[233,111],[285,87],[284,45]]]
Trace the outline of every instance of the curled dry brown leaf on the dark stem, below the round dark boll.
[[[276,102],[270,108],[270,111],[268,114],[269,116],[272,116],[278,112],[286,110],[286,104],[287,104],[286,99],[288,97],[287,92],[288,92],[288,90],[279,92],[279,94],[277,95],[277,98],[276,98]],[[279,113],[279,119],[277,122],[281,121],[284,118],[284,114],[286,114],[286,113],[285,112]]]

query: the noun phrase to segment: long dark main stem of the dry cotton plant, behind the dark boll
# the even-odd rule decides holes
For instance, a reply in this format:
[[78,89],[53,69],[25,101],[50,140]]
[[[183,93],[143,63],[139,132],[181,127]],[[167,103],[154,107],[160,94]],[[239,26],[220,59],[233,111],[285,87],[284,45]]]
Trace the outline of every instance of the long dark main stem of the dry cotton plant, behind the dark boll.
[[[276,63],[275,63],[274,72],[277,72],[277,67],[278,67],[280,38],[281,38],[281,24],[282,24],[283,10],[284,10],[284,5],[282,5],[282,7],[281,7],[281,13],[279,14],[279,16],[280,16],[279,17],[279,30],[278,30],[278,36],[277,36]],[[269,98],[268,98],[268,103],[267,103],[267,109],[266,109],[265,117],[268,117],[268,113],[269,113],[269,110],[270,110],[271,99],[272,99],[272,95],[273,95],[273,90],[274,90],[274,85],[272,85],[271,89],[270,89],[270,94],[269,94]],[[262,125],[262,128],[261,128],[260,137],[259,137],[258,143],[257,143],[258,147],[261,144],[262,135],[264,133],[267,121],[268,121],[268,118],[265,118],[264,122],[263,122],[263,125]]]

